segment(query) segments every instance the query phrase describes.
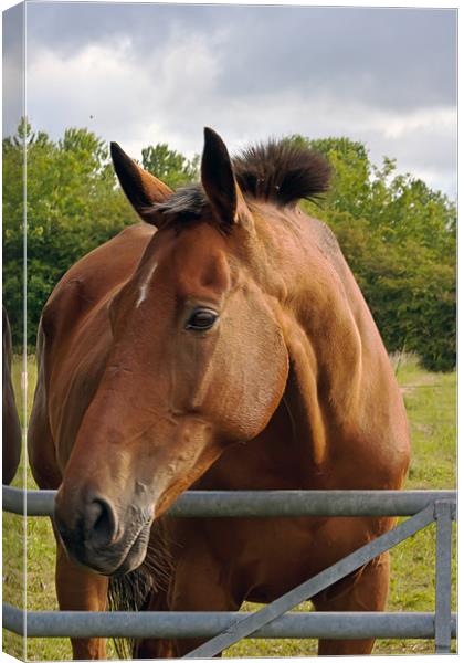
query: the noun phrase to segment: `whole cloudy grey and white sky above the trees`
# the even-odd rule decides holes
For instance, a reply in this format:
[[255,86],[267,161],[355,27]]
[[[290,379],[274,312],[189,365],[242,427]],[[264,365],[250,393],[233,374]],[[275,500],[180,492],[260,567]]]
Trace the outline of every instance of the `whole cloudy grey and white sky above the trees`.
[[[8,34],[3,49],[8,81]],[[454,198],[456,12],[32,2],[27,112],[54,138],[85,126],[136,158],[160,141],[199,152],[205,125],[232,151],[348,136]]]

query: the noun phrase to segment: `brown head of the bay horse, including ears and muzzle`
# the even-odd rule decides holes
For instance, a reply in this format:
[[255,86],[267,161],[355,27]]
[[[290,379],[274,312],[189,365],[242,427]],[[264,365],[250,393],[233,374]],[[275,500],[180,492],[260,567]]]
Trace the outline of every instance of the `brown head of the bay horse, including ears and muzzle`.
[[288,373],[275,248],[221,138],[205,130],[201,186],[175,193],[112,154],[158,231],[109,301],[106,368],[56,501],[70,552],[105,573],[137,567],[152,519],[225,448],[266,427]]

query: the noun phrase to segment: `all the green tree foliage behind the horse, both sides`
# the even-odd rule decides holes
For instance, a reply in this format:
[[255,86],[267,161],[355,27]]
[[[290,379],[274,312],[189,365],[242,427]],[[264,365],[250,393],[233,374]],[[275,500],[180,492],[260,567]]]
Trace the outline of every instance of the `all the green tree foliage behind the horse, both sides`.
[[[288,141],[326,155],[333,187],[323,207],[303,203],[336,233],[389,351],[408,350],[430,370],[455,366],[456,209],[440,191],[375,166],[366,146],[348,138]],[[27,154],[28,345],[53,286],[82,255],[137,217],[125,200],[107,145],[86,129],[52,141],[23,120],[3,140],[3,296],[14,343],[22,328],[23,147]],[[141,150],[143,167],[172,189],[199,177],[166,144]]]

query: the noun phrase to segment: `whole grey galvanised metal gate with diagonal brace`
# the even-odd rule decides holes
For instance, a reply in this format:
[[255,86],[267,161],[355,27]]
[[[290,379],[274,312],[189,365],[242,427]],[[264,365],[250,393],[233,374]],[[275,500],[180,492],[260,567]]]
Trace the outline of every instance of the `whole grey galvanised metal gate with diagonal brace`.
[[[53,514],[54,491],[3,486],[3,511]],[[447,653],[456,638],[451,612],[454,491],[188,491],[169,509],[177,517],[410,516],[390,532],[255,612],[56,612],[3,603],[3,627],[27,638],[210,638],[186,657],[211,657],[243,638],[434,639]],[[288,613],[381,552],[436,522],[435,612]]]

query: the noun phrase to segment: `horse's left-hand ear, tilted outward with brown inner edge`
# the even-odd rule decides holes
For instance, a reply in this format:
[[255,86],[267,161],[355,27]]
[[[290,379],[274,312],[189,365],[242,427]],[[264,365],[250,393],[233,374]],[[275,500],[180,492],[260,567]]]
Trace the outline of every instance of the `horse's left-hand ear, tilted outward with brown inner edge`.
[[110,152],[117,178],[130,204],[144,221],[158,225],[159,215],[151,207],[167,200],[172,194],[171,189],[140,168],[117,143],[110,144]]

